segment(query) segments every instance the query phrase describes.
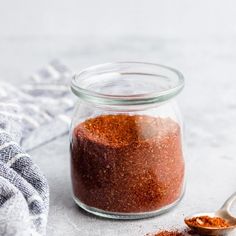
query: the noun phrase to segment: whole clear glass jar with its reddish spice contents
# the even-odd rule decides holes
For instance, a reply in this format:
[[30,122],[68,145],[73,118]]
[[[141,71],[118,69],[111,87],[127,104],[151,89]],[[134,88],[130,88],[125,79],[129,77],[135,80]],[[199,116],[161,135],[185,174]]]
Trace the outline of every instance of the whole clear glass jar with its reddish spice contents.
[[139,62],[94,66],[75,75],[70,131],[73,198],[116,219],[158,215],[184,192],[182,120],[175,69]]

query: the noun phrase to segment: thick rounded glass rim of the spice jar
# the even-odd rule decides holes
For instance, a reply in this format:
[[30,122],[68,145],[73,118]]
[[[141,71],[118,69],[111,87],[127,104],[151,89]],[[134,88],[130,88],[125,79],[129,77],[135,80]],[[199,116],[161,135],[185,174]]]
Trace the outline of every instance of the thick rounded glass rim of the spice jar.
[[[93,89],[89,89],[83,87],[82,84],[86,80],[86,78],[91,75],[102,74],[107,72],[109,68],[113,68],[110,72],[118,72],[121,75],[125,73],[119,72],[119,68],[124,66],[145,66],[152,67],[158,71],[158,69],[165,70],[166,72],[172,73],[175,76],[176,83],[171,87],[163,89],[162,91],[152,91],[147,93],[135,93],[130,95],[120,95],[120,94],[109,94],[104,92],[97,92]],[[116,68],[116,70],[114,70]],[[106,69],[106,70],[105,70]],[[108,70],[109,72],[109,70]],[[152,75],[158,79],[158,77],[163,77],[171,80],[172,78],[160,75],[153,74],[149,72],[129,72],[130,74],[139,74],[139,75]],[[171,68],[169,66],[149,63],[149,62],[135,62],[135,61],[124,61],[124,62],[113,62],[113,63],[105,63],[96,66],[88,67],[87,69],[82,70],[80,73],[75,74],[71,81],[71,90],[72,92],[78,96],[79,98],[86,100],[88,102],[102,104],[102,105],[145,105],[145,104],[153,104],[153,103],[161,103],[171,98],[175,97],[184,87],[184,76],[178,70]]]

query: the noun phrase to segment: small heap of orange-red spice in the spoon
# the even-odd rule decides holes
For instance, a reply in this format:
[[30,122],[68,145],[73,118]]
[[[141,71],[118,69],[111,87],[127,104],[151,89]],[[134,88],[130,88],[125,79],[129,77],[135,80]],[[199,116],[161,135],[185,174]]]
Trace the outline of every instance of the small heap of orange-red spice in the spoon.
[[220,217],[199,216],[185,220],[185,223],[190,226],[212,227],[212,228],[226,228],[230,225]]

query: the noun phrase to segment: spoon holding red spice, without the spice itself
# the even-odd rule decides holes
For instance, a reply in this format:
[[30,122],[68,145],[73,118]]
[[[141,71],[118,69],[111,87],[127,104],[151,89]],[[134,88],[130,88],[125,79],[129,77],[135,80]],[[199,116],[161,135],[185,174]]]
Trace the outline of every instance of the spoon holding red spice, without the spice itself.
[[[202,213],[193,214],[191,216],[186,217],[184,219],[184,222],[185,224],[188,225],[190,229],[192,229],[194,232],[200,235],[227,235],[236,229],[236,218],[232,216],[230,213],[230,208],[235,200],[236,200],[236,193],[231,195],[218,211],[210,212],[210,213],[202,212]],[[224,219],[229,224],[229,226],[228,227],[206,227],[204,225],[195,226],[195,225],[189,224],[188,222],[189,219],[200,217],[200,216],[220,217]]]

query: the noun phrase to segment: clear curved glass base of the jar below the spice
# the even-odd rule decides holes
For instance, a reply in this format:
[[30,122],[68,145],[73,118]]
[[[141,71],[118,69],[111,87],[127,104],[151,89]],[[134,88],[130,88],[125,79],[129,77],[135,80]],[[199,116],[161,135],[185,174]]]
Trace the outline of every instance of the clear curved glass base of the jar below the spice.
[[108,219],[116,219],[116,220],[137,220],[137,219],[155,217],[155,216],[158,216],[158,215],[161,215],[170,211],[171,209],[173,209],[175,206],[179,204],[183,196],[184,196],[184,192],[182,193],[180,198],[178,198],[178,200],[176,200],[175,202],[165,207],[162,207],[161,209],[158,209],[156,211],[148,211],[148,212],[141,212],[141,213],[119,213],[119,212],[104,211],[96,207],[87,206],[75,196],[73,196],[73,199],[80,208],[99,217],[108,218]]

